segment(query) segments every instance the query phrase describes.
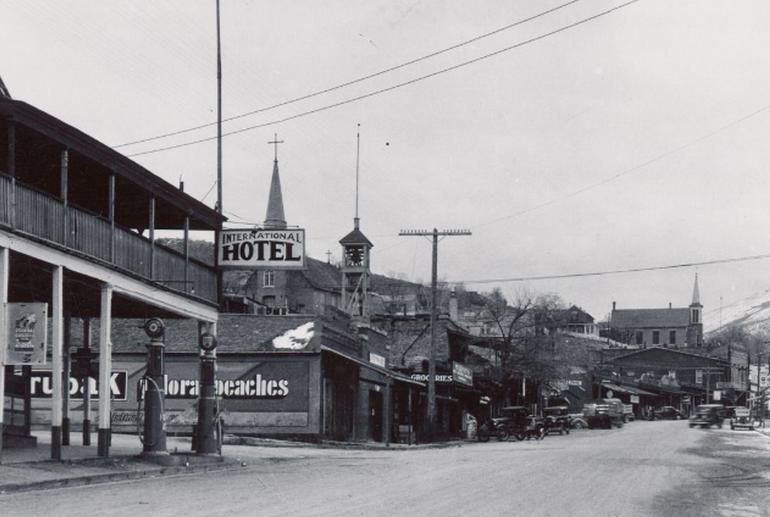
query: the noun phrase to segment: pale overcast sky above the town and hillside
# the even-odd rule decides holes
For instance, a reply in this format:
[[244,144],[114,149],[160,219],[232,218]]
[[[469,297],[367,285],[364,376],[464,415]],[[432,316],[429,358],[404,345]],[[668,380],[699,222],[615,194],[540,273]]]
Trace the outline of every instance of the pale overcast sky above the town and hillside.
[[[374,74],[509,26],[557,1],[222,2],[225,117]],[[378,273],[430,280],[430,243],[400,229],[468,228],[439,276],[555,292],[603,319],[687,306],[695,268],[548,281],[471,281],[668,266],[770,253],[770,5],[582,0],[430,59],[227,122],[224,209],[265,218],[277,132],[286,217],[325,260],[361,228]],[[0,76],[108,145],[216,120],[214,0],[0,1]],[[553,35],[539,38],[566,28]],[[535,38],[533,40],[533,38]],[[533,40],[527,43],[529,40]],[[482,56],[491,57],[477,60]],[[323,109],[433,75],[364,99]],[[131,155],[205,127],[120,147]],[[213,206],[213,141],[135,156]],[[768,260],[698,268],[707,325],[768,288]]]

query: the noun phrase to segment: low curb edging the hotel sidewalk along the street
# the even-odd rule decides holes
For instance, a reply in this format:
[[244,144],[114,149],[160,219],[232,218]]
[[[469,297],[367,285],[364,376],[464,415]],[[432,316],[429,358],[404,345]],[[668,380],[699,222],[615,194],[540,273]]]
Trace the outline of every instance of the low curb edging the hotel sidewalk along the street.
[[225,470],[235,470],[235,468],[244,468],[244,463],[224,461],[222,463],[211,463],[202,465],[162,467],[159,469],[134,470],[129,472],[106,472],[104,474],[89,474],[86,476],[74,476],[68,478],[48,479],[45,481],[34,481],[31,483],[9,483],[0,485],[0,495],[6,495],[19,492],[32,492],[38,490],[53,490],[57,488],[73,488],[88,485],[99,485],[104,483],[114,483],[119,481],[133,481],[137,479],[147,479],[159,476],[181,476],[185,474],[201,474],[205,472],[221,472]]

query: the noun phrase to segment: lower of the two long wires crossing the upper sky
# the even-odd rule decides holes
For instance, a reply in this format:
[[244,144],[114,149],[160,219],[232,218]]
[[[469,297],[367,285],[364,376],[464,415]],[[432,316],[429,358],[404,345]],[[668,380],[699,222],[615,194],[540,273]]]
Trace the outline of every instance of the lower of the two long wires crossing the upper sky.
[[[338,108],[338,107],[344,106],[346,104],[350,104],[350,103],[353,103],[353,102],[356,102],[356,101],[367,99],[369,97],[374,97],[376,95],[387,93],[387,92],[396,90],[398,88],[402,88],[404,86],[409,86],[409,85],[418,83],[420,81],[424,81],[425,79],[430,79],[430,78],[436,77],[438,75],[442,75],[442,74],[445,74],[447,72],[451,72],[451,71],[457,70],[459,68],[462,68],[462,67],[474,64],[474,63],[478,63],[480,61],[484,61],[484,60],[489,59],[491,57],[503,54],[505,52],[509,52],[511,50],[515,50],[517,48],[520,48],[520,47],[523,47],[523,46],[526,46],[526,45],[529,45],[529,44],[532,44],[532,43],[535,43],[537,41],[540,41],[542,39],[548,38],[550,36],[554,36],[554,35],[559,34],[561,32],[565,32],[565,31],[567,31],[569,29],[573,29],[573,28],[578,27],[580,25],[584,25],[584,24],[586,24],[588,22],[591,22],[593,20],[601,18],[602,16],[606,16],[608,14],[611,14],[611,13],[613,13],[615,11],[623,9],[624,7],[627,7],[627,6],[631,5],[631,4],[635,4],[636,2],[639,2],[639,1],[640,0],[630,0],[630,1],[625,2],[623,4],[617,5],[615,7],[610,8],[610,9],[606,9],[604,11],[601,11],[601,12],[597,13],[597,14],[589,16],[587,18],[583,18],[583,19],[581,19],[581,20],[579,20],[577,22],[571,23],[569,25],[564,25],[564,26],[562,26],[562,27],[560,27],[558,29],[552,30],[550,32],[546,32],[544,34],[541,34],[539,36],[535,36],[533,38],[529,38],[527,40],[521,41],[521,42],[516,43],[514,45],[510,45],[510,46],[502,48],[500,50],[496,50],[494,52],[490,52],[488,54],[484,54],[482,56],[470,59],[468,61],[463,61],[463,62],[458,63],[456,65],[452,65],[450,67],[442,68],[442,69],[437,70],[435,72],[431,72],[430,74],[421,75],[419,77],[415,77],[414,79],[410,79],[408,81],[397,83],[397,84],[394,84],[392,86],[388,86],[386,88],[381,88],[379,90],[374,90],[374,91],[371,91],[369,93],[365,93],[363,95],[358,95],[356,97],[351,97],[351,98],[348,98],[348,99],[345,99],[345,100],[342,100],[342,101],[339,101],[339,102],[335,102],[333,104],[327,104],[325,106],[321,106],[319,108],[315,108],[315,109],[312,109],[312,110],[303,111],[303,112],[297,113],[295,115],[291,115],[291,116],[284,117],[284,118],[281,118],[281,119],[273,120],[273,121],[270,121],[270,122],[264,122],[262,124],[256,124],[256,125],[253,125],[253,126],[247,126],[247,127],[241,128],[241,129],[236,129],[234,131],[229,131],[227,133],[223,133],[222,137],[237,135],[237,134],[240,134],[240,133],[245,133],[247,131],[253,131],[254,129],[260,129],[260,128],[267,127],[267,126],[273,126],[275,124],[281,124],[283,122],[288,122],[290,120],[295,120],[295,119],[298,119],[298,118],[301,118],[301,117],[306,117],[308,115],[314,115],[316,113],[327,111],[327,110],[330,110],[332,108]],[[197,140],[191,140],[189,142],[183,142],[183,143],[176,144],[176,145],[169,145],[169,146],[165,146],[165,147],[158,147],[158,148],[155,148],[155,149],[150,149],[148,151],[142,151],[142,152],[138,152],[138,153],[133,153],[133,154],[129,154],[127,156],[129,156],[129,157],[143,156],[143,155],[146,155],[146,154],[154,154],[154,153],[159,153],[159,152],[163,152],[163,151],[170,151],[172,149],[179,149],[180,147],[187,147],[187,146],[190,146],[190,145],[200,144],[200,143],[203,143],[203,142],[210,142],[211,140],[215,140],[216,138],[217,137],[215,137],[215,136],[214,137],[199,138]]]

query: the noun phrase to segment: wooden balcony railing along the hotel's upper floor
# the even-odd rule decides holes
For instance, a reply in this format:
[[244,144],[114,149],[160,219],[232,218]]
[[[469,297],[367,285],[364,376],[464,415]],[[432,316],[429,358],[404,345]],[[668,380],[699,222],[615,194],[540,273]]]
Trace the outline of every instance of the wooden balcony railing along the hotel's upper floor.
[[[66,221],[66,224],[65,224]],[[0,175],[0,225],[164,285],[217,302],[213,267],[151,242],[136,232]],[[66,235],[65,235],[66,231]]]

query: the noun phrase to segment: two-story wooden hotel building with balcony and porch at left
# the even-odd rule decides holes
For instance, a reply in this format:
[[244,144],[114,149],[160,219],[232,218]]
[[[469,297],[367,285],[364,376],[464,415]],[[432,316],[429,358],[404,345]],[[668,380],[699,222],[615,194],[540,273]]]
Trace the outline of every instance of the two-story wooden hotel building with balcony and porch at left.
[[[188,242],[190,231],[203,230],[214,240],[223,221],[110,147],[0,92],[0,304],[46,311],[0,318],[0,332],[9,336],[0,354],[0,427],[7,445],[33,441],[30,379],[43,370],[52,398],[52,457],[66,457],[69,413],[85,403],[70,400],[62,386],[73,320],[84,329],[84,356],[98,357],[100,386],[111,380],[113,318],[190,319],[200,331],[215,331],[215,268],[191,257],[187,246],[180,253],[155,236],[173,230]],[[34,347],[24,341],[34,328],[48,335],[47,350],[46,339]],[[101,390],[102,456],[109,453],[110,413],[109,392]],[[83,439],[90,443],[90,433]]]

